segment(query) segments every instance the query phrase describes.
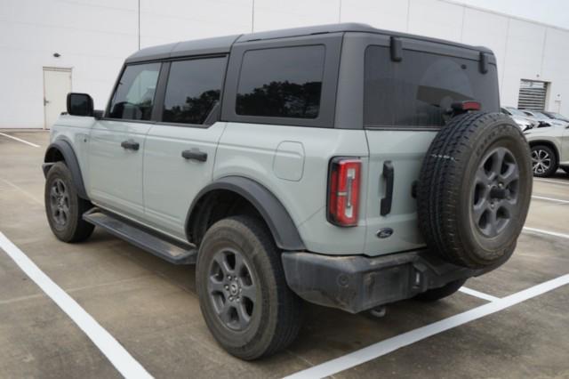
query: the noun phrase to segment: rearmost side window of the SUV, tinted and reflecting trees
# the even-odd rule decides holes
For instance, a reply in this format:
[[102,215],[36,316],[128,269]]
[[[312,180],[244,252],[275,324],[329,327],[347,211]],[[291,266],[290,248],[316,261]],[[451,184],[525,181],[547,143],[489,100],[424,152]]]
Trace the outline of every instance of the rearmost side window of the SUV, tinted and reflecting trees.
[[324,61],[324,45],[245,52],[237,86],[236,113],[318,117]]

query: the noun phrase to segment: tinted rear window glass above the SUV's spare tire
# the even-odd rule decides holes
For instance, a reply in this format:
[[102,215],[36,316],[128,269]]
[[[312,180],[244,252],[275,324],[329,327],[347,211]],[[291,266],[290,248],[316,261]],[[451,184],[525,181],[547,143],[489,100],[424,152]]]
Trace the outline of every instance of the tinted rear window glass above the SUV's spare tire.
[[366,126],[442,126],[455,101],[475,100],[482,110],[498,112],[496,67],[482,74],[477,60],[405,50],[390,59],[389,48],[365,52]]

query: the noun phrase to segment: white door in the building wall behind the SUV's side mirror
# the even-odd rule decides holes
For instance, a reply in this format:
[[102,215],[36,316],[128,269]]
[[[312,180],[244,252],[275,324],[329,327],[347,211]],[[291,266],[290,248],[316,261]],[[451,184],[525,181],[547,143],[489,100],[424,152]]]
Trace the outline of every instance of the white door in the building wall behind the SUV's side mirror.
[[49,129],[67,109],[71,69],[44,67],[44,129]]

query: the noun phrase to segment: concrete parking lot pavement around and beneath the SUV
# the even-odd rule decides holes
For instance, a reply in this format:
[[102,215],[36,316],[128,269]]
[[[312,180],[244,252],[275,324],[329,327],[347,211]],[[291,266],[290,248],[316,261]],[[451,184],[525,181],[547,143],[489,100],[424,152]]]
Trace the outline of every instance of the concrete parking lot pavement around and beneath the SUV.
[[0,377],[121,376],[114,345],[95,344],[22,270],[16,250],[101,327],[90,333],[106,331],[156,377],[569,377],[565,173],[534,181],[516,253],[470,279],[464,292],[436,303],[400,302],[381,319],[307,304],[301,335],[287,351],[244,362],[209,334],[193,266],[174,266],[102,230],[82,244],[57,240],[44,215],[40,168],[48,133],[3,133]]

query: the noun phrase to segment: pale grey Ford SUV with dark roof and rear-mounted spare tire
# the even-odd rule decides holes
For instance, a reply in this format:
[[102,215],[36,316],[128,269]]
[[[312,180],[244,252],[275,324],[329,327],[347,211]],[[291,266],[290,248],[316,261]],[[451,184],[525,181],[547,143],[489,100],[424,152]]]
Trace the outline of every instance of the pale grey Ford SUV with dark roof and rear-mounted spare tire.
[[493,52],[360,24],[140,50],[104,111],[68,94],[51,142],[55,236],[97,226],[196,263],[207,326],[241,359],[292,343],[303,301],[453,294],[509,259],[532,192]]

